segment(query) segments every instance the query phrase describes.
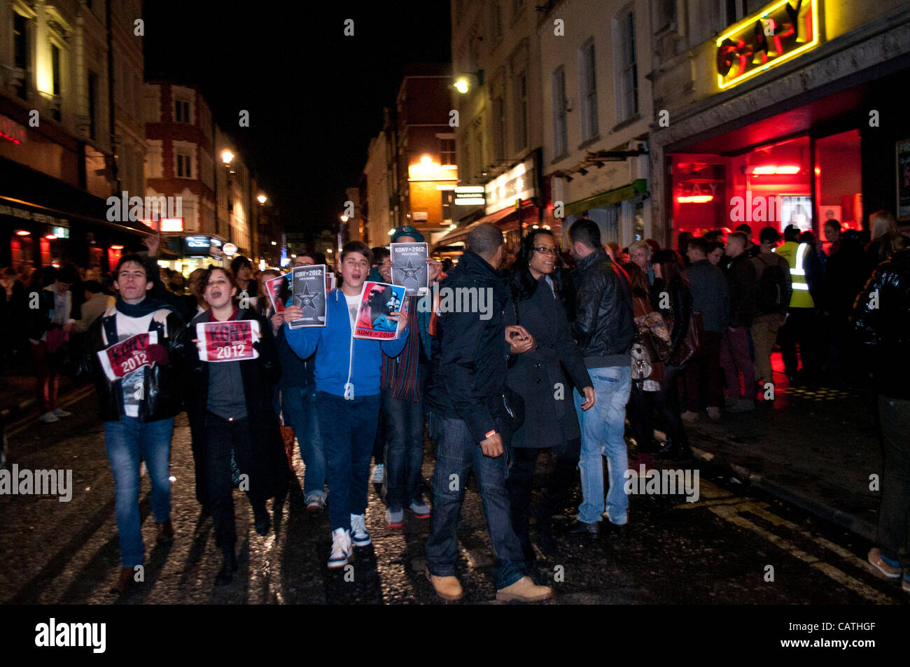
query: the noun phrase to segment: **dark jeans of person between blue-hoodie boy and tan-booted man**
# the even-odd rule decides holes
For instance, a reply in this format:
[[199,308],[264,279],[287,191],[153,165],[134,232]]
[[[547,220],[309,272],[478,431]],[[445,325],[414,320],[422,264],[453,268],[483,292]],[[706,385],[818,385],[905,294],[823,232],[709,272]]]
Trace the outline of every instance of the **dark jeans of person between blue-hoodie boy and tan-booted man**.
[[386,505],[389,510],[403,510],[423,501],[423,403],[396,399],[390,389],[382,389],[382,411],[386,415]]

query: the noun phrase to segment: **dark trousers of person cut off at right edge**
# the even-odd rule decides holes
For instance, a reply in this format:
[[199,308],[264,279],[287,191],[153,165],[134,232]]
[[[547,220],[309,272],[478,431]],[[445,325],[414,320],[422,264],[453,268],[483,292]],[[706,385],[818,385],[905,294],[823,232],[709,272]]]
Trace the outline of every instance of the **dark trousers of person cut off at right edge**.
[[878,397],[882,429],[882,509],[878,542],[910,571],[910,399]]

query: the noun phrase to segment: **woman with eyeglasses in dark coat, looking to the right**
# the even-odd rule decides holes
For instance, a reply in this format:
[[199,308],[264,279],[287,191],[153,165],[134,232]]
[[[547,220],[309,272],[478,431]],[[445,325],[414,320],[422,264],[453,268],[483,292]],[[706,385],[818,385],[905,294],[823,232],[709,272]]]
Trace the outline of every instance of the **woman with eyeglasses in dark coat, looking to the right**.
[[537,229],[524,237],[509,272],[511,302],[505,311],[506,324],[521,324],[535,342],[533,349],[511,359],[507,378],[509,387],[521,394],[525,404],[524,423],[512,435],[512,462],[506,483],[512,527],[528,561],[535,560],[528,523],[537,456],[542,449],[552,448],[553,468],[536,513],[538,543],[544,552],[554,554],[552,516],[575,480],[581,449],[572,386],[584,395],[583,409],[594,405],[593,383],[571,338],[558,263],[559,250],[549,230]]

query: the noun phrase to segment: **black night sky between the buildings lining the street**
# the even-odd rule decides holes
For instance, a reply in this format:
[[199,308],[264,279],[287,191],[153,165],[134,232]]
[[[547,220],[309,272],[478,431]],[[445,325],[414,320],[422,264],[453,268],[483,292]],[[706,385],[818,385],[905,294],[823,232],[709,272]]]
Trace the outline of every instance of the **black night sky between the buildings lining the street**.
[[144,4],[147,76],[200,86],[288,231],[337,220],[402,66],[450,61],[446,0]]

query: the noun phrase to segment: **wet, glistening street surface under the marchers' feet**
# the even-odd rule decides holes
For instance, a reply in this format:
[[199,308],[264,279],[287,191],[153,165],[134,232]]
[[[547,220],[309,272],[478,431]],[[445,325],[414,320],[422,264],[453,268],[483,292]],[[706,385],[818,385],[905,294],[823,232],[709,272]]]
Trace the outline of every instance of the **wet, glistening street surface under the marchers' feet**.
[[[74,398],[66,408],[76,413],[73,417],[49,425],[13,424],[8,430],[9,465],[72,469],[74,492],[66,503],[56,497],[0,496],[0,602],[441,603],[423,575],[430,520],[406,513],[403,529],[390,530],[378,486],[370,490],[367,510],[373,543],[355,551],[352,570],[326,568],[328,516],[304,510],[304,470],[297,453],[297,480],[276,510],[268,536],[254,531],[249,503],[235,491],[240,567],[232,584],[216,587],[221,555],[211,520],[200,517],[195,499],[186,415],[177,418],[171,450],[177,539],[155,544],[144,478],[146,581],[122,596],[110,593],[119,568],[113,478],[94,396]],[[432,465],[428,440],[423,469],[428,500]],[[541,457],[535,489],[548,465]],[[731,480],[729,472],[708,464],[675,464],[693,466],[701,471],[698,502],[688,503],[682,495],[634,496],[624,536],[560,534],[558,557],[539,552],[531,575],[555,587],[552,603],[910,602],[910,595],[865,562],[868,542]],[[576,487],[557,520],[568,523],[580,500]],[[532,526],[532,538],[535,534]],[[473,478],[459,538],[462,602],[494,601],[493,556]]]

